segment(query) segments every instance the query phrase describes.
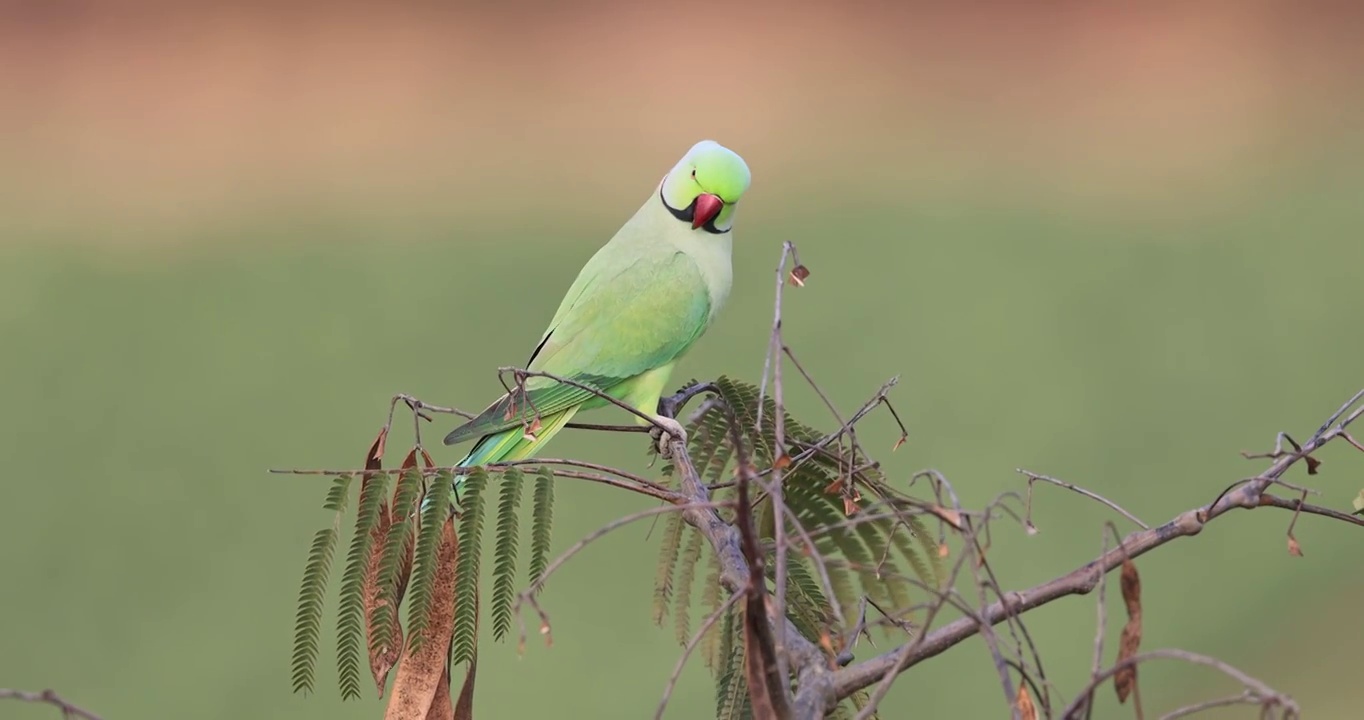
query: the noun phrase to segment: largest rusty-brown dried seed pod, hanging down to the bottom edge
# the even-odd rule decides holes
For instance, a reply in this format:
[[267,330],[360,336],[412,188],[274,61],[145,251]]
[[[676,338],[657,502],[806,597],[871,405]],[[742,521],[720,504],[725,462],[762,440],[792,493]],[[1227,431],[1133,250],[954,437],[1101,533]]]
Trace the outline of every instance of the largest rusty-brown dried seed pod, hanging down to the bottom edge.
[[[454,518],[446,518],[436,550],[435,582],[431,592],[431,619],[423,630],[416,652],[402,657],[398,676],[393,680],[393,695],[385,710],[385,720],[424,720],[441,701],[436,695],[445,687],[449,708],[449,650],[454,634],[454,566],[460,555],[460,540],[454,532]],[[443,685],[442,685],[443,680]],[[471,700],[472,702],[472,700]],[[446,715],[442,717],[453,717]]]

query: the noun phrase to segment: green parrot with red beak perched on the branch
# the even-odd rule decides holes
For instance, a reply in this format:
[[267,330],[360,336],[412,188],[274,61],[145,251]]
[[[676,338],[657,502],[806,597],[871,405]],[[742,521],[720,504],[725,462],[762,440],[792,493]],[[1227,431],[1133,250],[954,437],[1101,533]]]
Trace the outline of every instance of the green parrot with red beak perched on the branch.
[[[527,370],[592,387],[653,417],[677,361],[705,333],[730,295],[735,205],[750,183],[732,150],[701,140],[649,199],[588,260],[569,288]],[[460,466],[535,455],[578,410],[610,402],[550,378],[528,378],[445,438],[477,438]],[[532,409],[533,408],[533,409]],[[648,424],[636,417],[638,424]],[[659,436],[666,447],[667,438]],[[462,483],[456,479],[454,487]]]

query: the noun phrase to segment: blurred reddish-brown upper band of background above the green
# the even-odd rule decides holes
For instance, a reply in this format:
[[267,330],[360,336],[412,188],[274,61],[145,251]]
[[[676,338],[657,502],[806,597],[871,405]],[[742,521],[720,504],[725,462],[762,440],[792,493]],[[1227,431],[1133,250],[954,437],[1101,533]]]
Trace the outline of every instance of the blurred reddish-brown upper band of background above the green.
[[[863,192],[1185,210],[1225,199],[1228,176],[1273,181],[1345,151],[1364,104],[1364,11],[1349,3],[20,1],[8,15],[0,147],[26,173],[7,195],[44,220],[71,220],[72,192],[79,215],[151,222],[374,194],[495,217],[456,198],[514,187],[567,205],[705,134],[743,140],[769,199],[893,176]],[[807,177],[812,162],[839,175]]]

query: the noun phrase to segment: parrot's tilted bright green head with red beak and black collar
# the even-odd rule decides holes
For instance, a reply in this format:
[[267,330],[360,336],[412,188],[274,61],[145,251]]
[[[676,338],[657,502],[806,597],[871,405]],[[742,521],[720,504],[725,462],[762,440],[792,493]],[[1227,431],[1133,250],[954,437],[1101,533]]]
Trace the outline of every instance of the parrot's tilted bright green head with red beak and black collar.
[[672,217],[712,235],[730,232],[734,206],[749,190],[749,166],[734,150],[701,140],[668,170],[659,199]]

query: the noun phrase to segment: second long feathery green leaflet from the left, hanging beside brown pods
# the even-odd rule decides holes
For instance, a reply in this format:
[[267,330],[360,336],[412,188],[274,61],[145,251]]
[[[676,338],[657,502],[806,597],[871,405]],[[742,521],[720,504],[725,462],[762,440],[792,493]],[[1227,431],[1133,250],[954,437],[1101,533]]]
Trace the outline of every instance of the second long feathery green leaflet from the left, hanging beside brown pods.
[[360,507],[356,511],[355,536],[341,575],[341,608],[337,612],[337,672],[341,697],[360,697],[360,635],[364,633],[364,571],[370,563],[371,532],[379,522],[379,510],[387,476],[378,473],[364,480]]

